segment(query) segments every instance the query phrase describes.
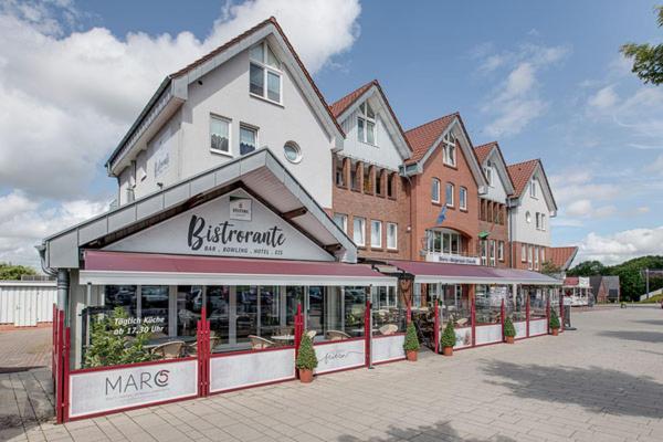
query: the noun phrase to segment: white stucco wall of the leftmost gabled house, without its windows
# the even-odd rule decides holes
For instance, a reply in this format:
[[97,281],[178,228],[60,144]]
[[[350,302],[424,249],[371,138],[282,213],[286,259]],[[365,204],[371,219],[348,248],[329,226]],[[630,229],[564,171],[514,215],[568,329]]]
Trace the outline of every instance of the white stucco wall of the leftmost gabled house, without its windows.
[[[272,150],[322,207],[332,207],[334,136],[320,123],[285,63],[282,104],[250,93],[249,67],[249,50],[244,50],[187,86],[188,98],[181,107],[131,158],[131,166],[119,173],[120,204],[130,201],[128,189],[133,188],[134,197],[140,198],[236,158],[240,126],[246,126],[257,130],[256,148]],[[230,125],[228,154],[210,148],[212,116]],[[299,161],[285,158],[283,148],[287,141],[299,147]]]

